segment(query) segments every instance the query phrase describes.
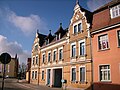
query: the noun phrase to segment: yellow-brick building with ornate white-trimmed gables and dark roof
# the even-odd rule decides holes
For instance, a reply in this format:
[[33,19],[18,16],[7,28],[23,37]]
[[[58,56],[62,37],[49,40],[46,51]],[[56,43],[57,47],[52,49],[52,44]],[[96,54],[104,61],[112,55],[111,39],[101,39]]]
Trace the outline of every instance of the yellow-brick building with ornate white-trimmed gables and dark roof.
[[[60,24],[54,35],[51,31],[47,36],[37,33],[32,49],[31,82],[50,87],[91,89],[91,23],[91,12],[76,2],[69,28],[63,29]],[[37,65],[36,56],[39,58]]]

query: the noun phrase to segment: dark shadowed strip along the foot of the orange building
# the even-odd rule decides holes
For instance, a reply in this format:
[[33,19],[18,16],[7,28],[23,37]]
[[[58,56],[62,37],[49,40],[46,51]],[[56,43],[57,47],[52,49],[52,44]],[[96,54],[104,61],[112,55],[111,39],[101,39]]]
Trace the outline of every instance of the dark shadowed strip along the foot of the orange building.
[[[85,90],[92,90],[91,87]],[[120,84],[94,83],[94,90],[120,90]]]

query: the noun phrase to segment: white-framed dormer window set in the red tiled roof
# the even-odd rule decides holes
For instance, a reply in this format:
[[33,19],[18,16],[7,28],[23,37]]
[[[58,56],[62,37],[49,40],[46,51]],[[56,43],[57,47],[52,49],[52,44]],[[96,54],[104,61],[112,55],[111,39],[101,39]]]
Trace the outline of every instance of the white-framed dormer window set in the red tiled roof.
[[111,12],[111,18],[115,18],[120,16],[120,4],[117,6],[114,6],[110,9]]

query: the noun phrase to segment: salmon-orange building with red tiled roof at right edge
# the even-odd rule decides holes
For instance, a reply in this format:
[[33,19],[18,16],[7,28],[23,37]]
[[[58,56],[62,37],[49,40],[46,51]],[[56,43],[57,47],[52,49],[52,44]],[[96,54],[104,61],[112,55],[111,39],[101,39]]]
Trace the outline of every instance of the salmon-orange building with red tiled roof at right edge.
[[120,90],[120,1],[93,14],[92,47],[95,90]]

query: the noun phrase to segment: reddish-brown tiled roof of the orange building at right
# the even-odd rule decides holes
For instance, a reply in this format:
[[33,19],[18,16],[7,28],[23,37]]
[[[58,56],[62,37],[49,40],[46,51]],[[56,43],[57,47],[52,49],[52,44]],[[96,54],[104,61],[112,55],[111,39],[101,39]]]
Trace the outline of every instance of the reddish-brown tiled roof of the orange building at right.
[[91,32],[110,27],[120,23],[120,16],[111,18],[110,8],[118,5],[120,0],[113,0],[93,12],[93,22]]

